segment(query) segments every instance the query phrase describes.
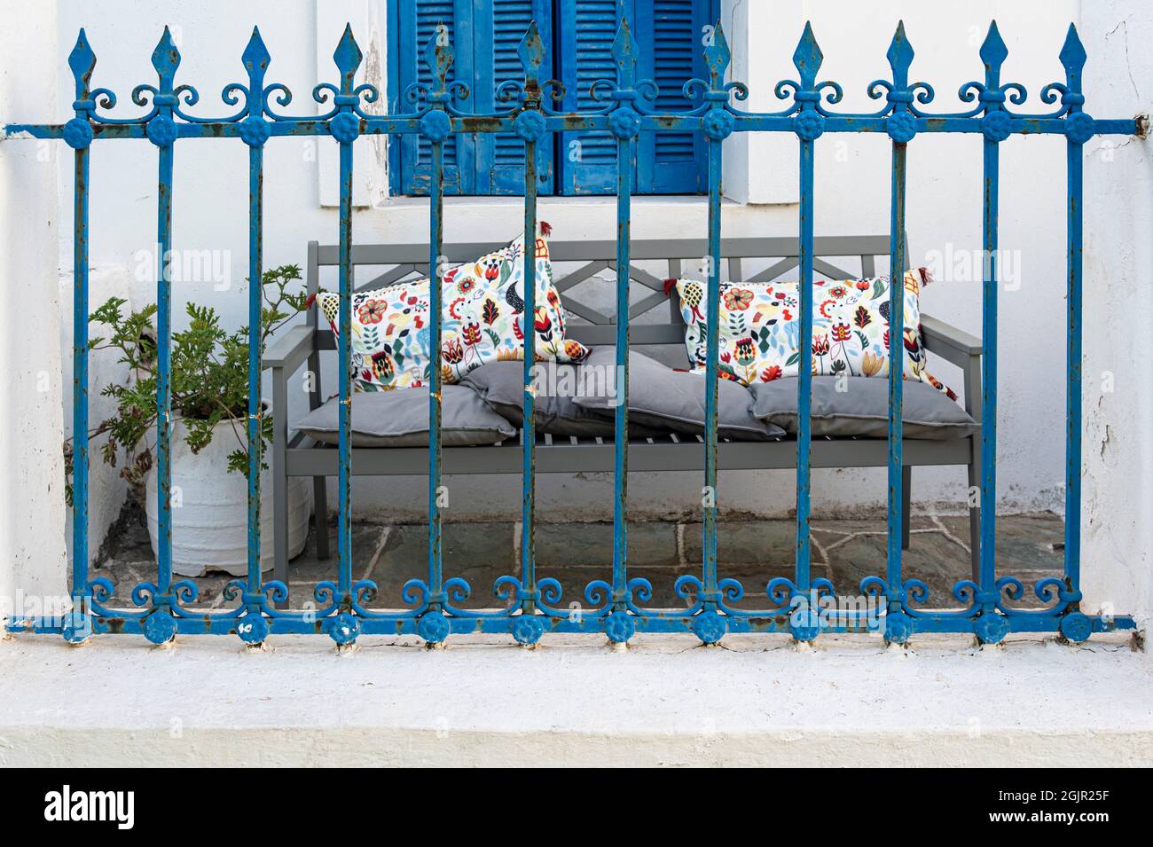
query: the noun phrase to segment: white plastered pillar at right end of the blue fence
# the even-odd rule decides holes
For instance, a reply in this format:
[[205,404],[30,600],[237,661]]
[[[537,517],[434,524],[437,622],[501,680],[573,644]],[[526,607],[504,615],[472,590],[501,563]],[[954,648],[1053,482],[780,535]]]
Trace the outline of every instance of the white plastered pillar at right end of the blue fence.
[[[1153,112],[1153,20],[1139,0],[1086,2],[1093,114]],[[1136,108],[1132,104],[1136,103]],[[1085,150],[1086,605],[1153,610],[1153,162],[1148,139]]]

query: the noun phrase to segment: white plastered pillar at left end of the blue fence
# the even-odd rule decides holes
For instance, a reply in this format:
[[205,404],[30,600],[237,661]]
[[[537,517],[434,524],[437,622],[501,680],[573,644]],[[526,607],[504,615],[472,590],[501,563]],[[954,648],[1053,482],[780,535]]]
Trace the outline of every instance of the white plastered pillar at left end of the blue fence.
[[[55,3],[6,2],[3,17],[20,27],[0,27],[0,115],[51,121],[56,89],[45,56],[58,55]],[[54,143],[0,142],[0,618],[67,596],[58,154]]]

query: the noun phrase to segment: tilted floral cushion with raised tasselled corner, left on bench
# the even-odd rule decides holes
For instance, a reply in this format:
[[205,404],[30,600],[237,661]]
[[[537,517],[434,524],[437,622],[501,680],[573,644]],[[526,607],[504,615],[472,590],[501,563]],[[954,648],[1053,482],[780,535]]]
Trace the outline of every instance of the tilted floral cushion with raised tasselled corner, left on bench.
[[[565,312],[552,285],[544,237],[536,240],[536,358],[581,362],[588,350],[565,339]],[[487,362],[525,357],[525,240],[512,241],[442,280],[442,378],[458,383]],[[340,295],[317,294],[339,334]],[[353,295],[353,375],[359,391],[420,387],[431,378],[429,281],[401,282]]]

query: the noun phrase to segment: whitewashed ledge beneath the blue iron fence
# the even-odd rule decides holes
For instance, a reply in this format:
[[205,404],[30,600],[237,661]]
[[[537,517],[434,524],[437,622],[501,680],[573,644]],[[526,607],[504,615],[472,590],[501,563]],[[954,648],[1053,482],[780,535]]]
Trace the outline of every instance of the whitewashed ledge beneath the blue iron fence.
[[1153,663],[1117,634],[182,637],[0,644],[0,764],[1144,765]]

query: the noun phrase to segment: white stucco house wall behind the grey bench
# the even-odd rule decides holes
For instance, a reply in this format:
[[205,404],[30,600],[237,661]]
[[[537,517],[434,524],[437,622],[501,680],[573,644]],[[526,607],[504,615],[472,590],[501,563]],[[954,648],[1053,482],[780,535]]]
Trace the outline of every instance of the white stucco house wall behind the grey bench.
[[[148,62],[165,22],[179,24],[183,62],[179,81],[195,81],[203,100],[202,113],[217,112],[216,92],[243,78],[240,53],[258,24],[272,54],[270,80],[282,81],[296,93],[293,108],[311,109],[309,91],[317,81],[317,56],[331,54],[333,33],[351,18],[366,47],[368,32],[379,27],[377,3],[369,0],[319,0],[246,3],[238,17],[234,3],[210,0],[197,14],[183,15],[155,0],[110,0],[99,18],[80,2],[61,5],[59,58],[80,25],[88,27],[99,56],[97,80],[121,93],[118,114],[130,114],[126,93],[153,77]],[[876,103],[865,96],[866,84],[888,76],[884,52],[896,21],[904,17],[917,50],[914,78],[932,81],[941,111],[955,107],[960,83],[981,77],[977,50],[990,17],[1001,23],[1009,45],[1007,78],[1018,80],[1032,92],[1063,78],[1056,53],[1064,30],[1077,17],[1073,0],[1057,2],[994,2],[975,0],[960,5],[849,0],[820,2],[737,2],[724,6],[733,36],[738,68],[747,74],[753,96],[751,108],[779,107],[771,94],[779,78],[794,76],[792,50],[802,22],[812,18],[824,51],[823,78],[845,88],[842,108],[866,109]],[[317,21],[319,20],[319,25]],[[324,31],[318,35],[318,30]],[[363,35],[362,35],[363,33]],[[330,45],[329,43],[333,44]],[[371,53],[370,50],[366,51]],[[1091,58],[1091,68],[1097,56]],[[327,77],[326,77],[327,78]],[[65,86],[66,82],[62,81]],[[1090,90],[1092,104],[1098,92]],[[68,94],[70,97],[70,94]],[[1136,98],[1118,96],[1110,104],[1118,114],[1131,114]],[[1102,113],[1103,114],[1103,113]],[[357,142],[359,161],[367,161],[357,183],[364,203],[379,195],[378,161],[371,139]],[[323,145],[322,145],[323,146]],[[796,143],[789,138],[751,139],[741,150],[730,144],[725,186],[734,198],[724,211],[728,235],[791,235],[796,233],[796,206],[779,201],[794,198]],[[363,150],[360,150],[363,148]],[[1001,244],[1013,279],[1001,297],[1001,451],[998,479],[1003,509],[1058,507],[1063,484],[1063,286],[1064,286],[1064,149],[1060,139],[1013,138],[1003,145]],[[93,157],[93,262],[121,264],[133,271],[141,251],[155,237],[156,153],[146,142],[99,145]],[[182,142],[176,152],[174,229],[175,245],[212,251],[212,270],[202,279],[175,287],[179,324],[183,302],[195,298],[217,308],[225,319],[244,320],[244,266],[247,256],[246,184],[243,145],[214,141]],[[749,167],[748,162],[754,162]],[[309,239],[332,242],[336,212],[322,206],[325,191],[318,179],[324,151],[311,141],[274,139],[266,153],[265,264],[303,263]],[[925,309],[973,333],[980,331],[980,273],[973,251],[980,248],[980,143],[974,138],[918,138],[910,152],[909,230],[914,262],[947,257],[939,282],[924,298]],[[889,144],[883,137],[827,136],[817,144],[816,232],[864,234],[888,228]],[[376,182],[372,182],[376,179]],[[65,174],[61,190],[70,196]],[[1087,196],[1094,188],[1090,183]],[[1100,195],[1103,197],[1105,194]],[[743,203],[739,201],[747,201]],[[447,240],[504,239],[518,232],[517,198],[450,199],[446,204]],[[555,227],[558,239],[610,239],[615,207],[611,198],[547,198],[542,219]],[[703,235],[702,204],[675,199],[642,198],[634,203],[633,234],[651,236]],[[354,220],[359,242],[427,239],[423,201],[384,199],[360,209]],[[965,271],[967,262],[971,270]],[[145,269],[149,262],[144,262]],[[224,270],[227,273],[224,273]],[[1008,265],[1007,265],[1008,270]],[[219,273],[218,273],[219,272]],[[606,283],[611,285],[611,283]],[[136,302],[152,294],[150,280],[136,283]],[[333,362],[327,362],[330,373]],[[934,369],[955,386],[959,375],[950,365]],[[331,383],[334,385],[334,383]],[[959,386],[958,386],[959,387]],[[303,404],[303,393],[293,393]],[[793,504],[791,471],[733,472],[722,481],[722,505],[754,514],[786,514]],[[453,479],[452,516],[499,517],[515,512],[519,483],[513,477]],[[361,514],[386,514],[421,520],[424,515],[423,479],[359,481],[356,505]],[[543,514],[559,517],[597,516],[608,513],[606,476],[549,477],[541,481]],[[883,504],[884,471],[817,471],[814,474],[817,511],[877,514]],[[630,485],[638,516],[693,514],[699,504],[699,479],[687,475],[638,475]],[[921,507],[960,511],[964,507],[963,469],[919,469],[913,497]]]

